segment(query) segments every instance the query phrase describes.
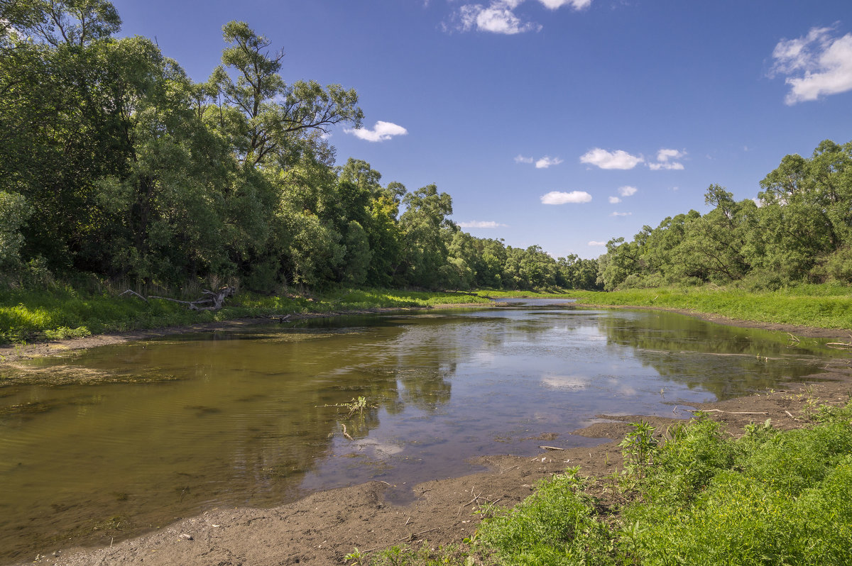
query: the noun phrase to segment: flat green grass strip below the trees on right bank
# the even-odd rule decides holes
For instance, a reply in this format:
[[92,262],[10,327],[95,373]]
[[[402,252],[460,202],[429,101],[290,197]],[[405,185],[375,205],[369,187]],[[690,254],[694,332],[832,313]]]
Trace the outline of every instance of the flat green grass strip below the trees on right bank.
[[800,285],[760,292],[711,287],[630,289],[578,291],[573,296],[593,306],[663,306],[759,323],[852,329],[852,289],[846,286]]

